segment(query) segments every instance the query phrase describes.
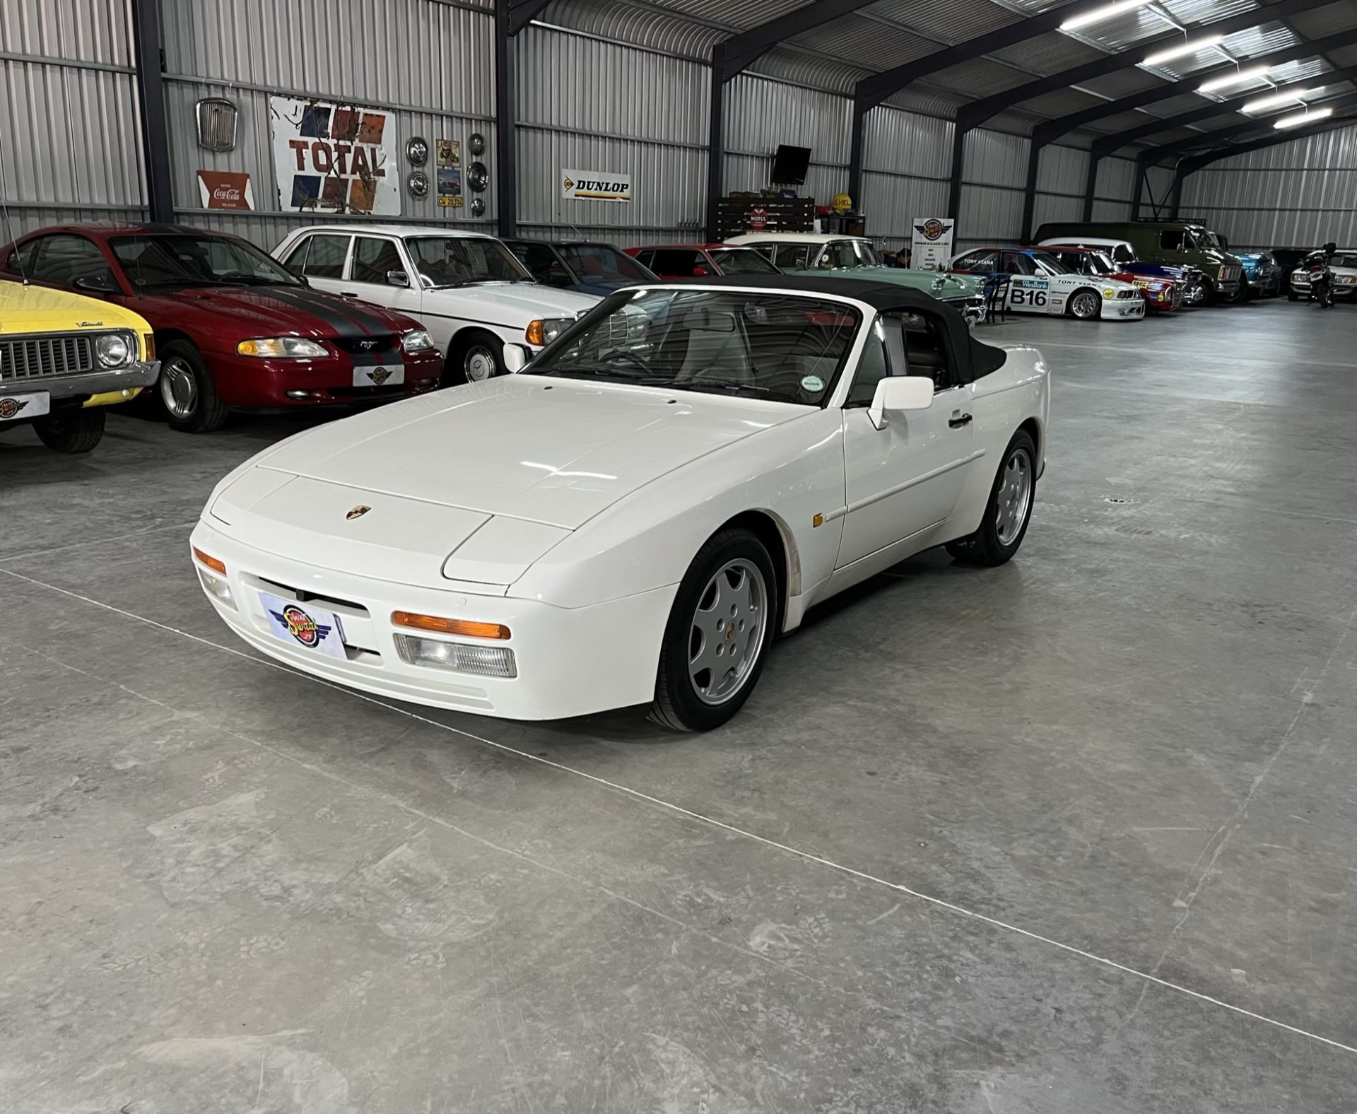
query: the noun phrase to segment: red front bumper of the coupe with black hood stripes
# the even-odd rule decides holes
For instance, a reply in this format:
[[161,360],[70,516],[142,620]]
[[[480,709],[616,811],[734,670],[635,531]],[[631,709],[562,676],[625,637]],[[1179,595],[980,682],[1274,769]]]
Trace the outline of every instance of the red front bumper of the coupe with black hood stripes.
[[221,402],[246,410],[395,400],[433,391],[442,380],[442,356],[437,350],[402,353],[404,383],[387,387],[354,387],[353,364],[335,356],[323,360],[259,360],[209,351],[204,353],[204,360]]

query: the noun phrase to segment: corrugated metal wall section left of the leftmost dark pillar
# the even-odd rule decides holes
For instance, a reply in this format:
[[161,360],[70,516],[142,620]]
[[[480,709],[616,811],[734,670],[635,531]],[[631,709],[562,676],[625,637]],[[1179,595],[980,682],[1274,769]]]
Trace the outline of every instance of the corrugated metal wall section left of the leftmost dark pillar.
[[15,235],[144,216],[129,0],[0,0],[0,193]]

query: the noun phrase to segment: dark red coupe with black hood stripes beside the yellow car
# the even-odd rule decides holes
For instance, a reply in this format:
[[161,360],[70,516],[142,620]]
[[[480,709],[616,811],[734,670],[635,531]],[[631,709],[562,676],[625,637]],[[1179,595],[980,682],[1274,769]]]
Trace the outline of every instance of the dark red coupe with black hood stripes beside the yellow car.
[[432,391],[442,356],[402,313],[313,290],[239,236],[171,224],[43,228],[0,248],[0,278],[136,311],[155,330],[170,425],[231,407],[373,403]]

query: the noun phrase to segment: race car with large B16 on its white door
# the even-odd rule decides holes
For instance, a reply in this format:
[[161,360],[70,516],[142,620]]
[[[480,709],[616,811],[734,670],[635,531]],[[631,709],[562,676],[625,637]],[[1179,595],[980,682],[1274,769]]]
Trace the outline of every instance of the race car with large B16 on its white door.
[[981,247],[951,261],[953,274],[1008,280],[1004,309],[1012,313],[1068,313],[1080,320],[1143,320],[1140,288],[1105,275],[1077,274],[1049,251],[1031,247]]

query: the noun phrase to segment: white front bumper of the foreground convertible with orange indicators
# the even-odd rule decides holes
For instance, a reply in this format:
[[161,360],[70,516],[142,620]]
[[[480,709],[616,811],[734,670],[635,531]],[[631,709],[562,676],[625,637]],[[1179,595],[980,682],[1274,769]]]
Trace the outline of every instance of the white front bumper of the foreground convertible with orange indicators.
[[[327,681],[438,708],[508,719],[565,719],[607,708],[645,704],[654,697],[660,642],[677,585],[586,608],[558,608],[539,600],[474,594],[461,589],[415,588],[369,575],[341,573],[267,554],[198,522],[191,544],[225,562],[236,608],[208,594],[221,619],[263,654]],[[194,570],[206,573],[190,555]],[[223,579],[218,575],[218,579]],[[259,593],[301,600],[290,585],[305,585],[315,607],[339,617],[345,661],[275,636]],[[486,592],[494,588],[486,585]],[[516,677],[484,677],[407,664],[396,650],[394,611],[502,623],[505,642],[446,638],[463,645],[513,650]],[[441,638],[404,631],[421,638]]]

